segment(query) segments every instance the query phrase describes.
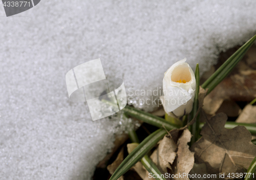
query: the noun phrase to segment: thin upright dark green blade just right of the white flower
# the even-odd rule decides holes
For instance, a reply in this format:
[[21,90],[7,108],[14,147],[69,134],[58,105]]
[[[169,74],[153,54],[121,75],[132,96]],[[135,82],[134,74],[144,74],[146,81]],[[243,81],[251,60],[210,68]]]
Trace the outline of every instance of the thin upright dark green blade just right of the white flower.
[[[194,99],[194,104],[193,104],[193,110],[190,113],[191,119],[193,119],[198,110],[198,94],[199,94],[199,89],[200,89],[200,74],[199,74],[199,64],[196,66],[196,71],[195,71],[195,76],[196,76],[196,83],[197,83],[197,88],[196,88],[196,94],[195,94],[195,99]],[[199,114],[196,117],[196,123],[194,123],[191,127],[191,134],[193,135],[191,137],[191,144],[197,141],[198,136],[199,136]]]

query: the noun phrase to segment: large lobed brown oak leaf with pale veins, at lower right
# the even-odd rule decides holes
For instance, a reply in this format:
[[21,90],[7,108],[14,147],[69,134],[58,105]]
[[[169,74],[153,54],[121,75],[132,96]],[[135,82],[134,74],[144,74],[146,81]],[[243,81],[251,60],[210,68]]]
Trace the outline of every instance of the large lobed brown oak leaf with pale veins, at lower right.
[[[207,172],[232,173],[244,172],[256,156],[256,145],[251,143],[251,134],[244,126],[228,130],[224,128],[227,116],[219,113],[207,119],[202,128],[202,137],[193,144],[195,163],[205,163]],[[245,169],[244,169],[245,168]]]

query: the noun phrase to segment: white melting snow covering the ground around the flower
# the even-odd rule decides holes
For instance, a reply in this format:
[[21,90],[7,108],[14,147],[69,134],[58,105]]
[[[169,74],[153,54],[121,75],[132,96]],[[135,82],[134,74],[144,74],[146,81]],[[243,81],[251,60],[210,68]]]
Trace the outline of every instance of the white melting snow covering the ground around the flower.
[[[129,102],[147,111],[141,90],[187,58],[201,73],[222,50],[256,33],[255,1],[42,0],[6,17],[0,6],[0,179],[90,179],[131,127],[121,114],[92,121],[87,103],[68,98],[65,75],[101,59],[124,81]],[[158,91],[156,91],[158,92]],[[132,95],[133,94],[133,95]],[[150,102],[150,101],[148,101]]]

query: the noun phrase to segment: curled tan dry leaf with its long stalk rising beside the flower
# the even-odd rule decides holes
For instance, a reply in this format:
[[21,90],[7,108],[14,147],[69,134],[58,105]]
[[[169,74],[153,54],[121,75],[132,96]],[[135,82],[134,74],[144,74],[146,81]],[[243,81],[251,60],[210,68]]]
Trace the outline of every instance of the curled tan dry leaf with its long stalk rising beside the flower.
[[[194,152],[190,152],[189,146],[187,145],[190,142],[191,134],[187,130],[187,127],[193,124],[196,120],[197,115],[203,107],[204,97],[207,93],[207,89],[203,89],[200,86],[198,101],[199,107],[196,113],[195,118],[193,118],[187,125],[179,129],[172,130],[166,135],[160,142],[158,148],[152,153],[152,161],[157,165],[160,171],[163,173],[167,172],[167,168],[172,169],[176,168],[173,172],[184,171],[189,172],[194,165]],[[182,135],[180,133],[182,132]],[[179,139],[181,138],[181,139]],[[176,145],[178,143],[178,146]],[[176,156],[176,149],[178,147],[179,155]],[[184,158],[185,157],[185,158]],[[173,164],[176,160],[175,165]],[[178,160],[178,161],[177,161]],[[186,162],[183,162],[186,161]]]

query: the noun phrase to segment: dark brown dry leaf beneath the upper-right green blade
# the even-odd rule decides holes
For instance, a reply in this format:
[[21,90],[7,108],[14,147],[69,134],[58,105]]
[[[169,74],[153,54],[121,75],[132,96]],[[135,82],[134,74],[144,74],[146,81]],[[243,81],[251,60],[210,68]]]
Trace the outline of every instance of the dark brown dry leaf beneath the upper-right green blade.
[[[256,64],[256,57],[251,61]],[[232,104],[226,104],[224,102],[225,108],[223,109],[223,107],[221,107],[221,112],[227,112],[228,116],[236,117],[239,115],[241,109],[234,101],[250,102],[256,97],[255,94],[256,69],[253,69],[250,63],[242,60],[231,74],[205,97],[203,109],[207,114],[214,115],[218,109],[223,106],[224,100],[228,100],[231,101]],[[227,107],[230,107],[230,109]],[[235,109],[231,109],[231,107]]]

